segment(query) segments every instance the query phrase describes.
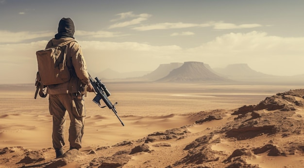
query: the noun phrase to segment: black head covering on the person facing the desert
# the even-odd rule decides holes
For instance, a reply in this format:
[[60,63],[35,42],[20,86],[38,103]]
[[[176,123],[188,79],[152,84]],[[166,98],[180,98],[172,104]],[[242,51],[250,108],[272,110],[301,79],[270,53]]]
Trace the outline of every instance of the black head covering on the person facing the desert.
[[55,39],[60,39],[64,37],[71,37],[74,39],[74,32],[75,32],[75,27],[74,27],[74,22],[71,18],[65,18],[63,17],[59,21],[58,25],[58,33],[55,34]]

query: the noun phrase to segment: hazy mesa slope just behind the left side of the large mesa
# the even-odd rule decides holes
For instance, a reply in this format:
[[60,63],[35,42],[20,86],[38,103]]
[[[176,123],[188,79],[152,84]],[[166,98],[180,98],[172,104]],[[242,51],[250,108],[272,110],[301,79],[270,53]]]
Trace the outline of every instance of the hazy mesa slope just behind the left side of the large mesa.
[[167,64],[160,64],[157,69],[152,71],[150,74],[142,76],[141,78],[154,81],[154,80],[157,80],[157,79],[160,79],[160,78],[163,78],[163,77],[169,75],[169,73],[173,69],[179,68],[182,65],[183,65],[183,63],[180,63],[180,62],[171,62],[171,63],[167,63]]

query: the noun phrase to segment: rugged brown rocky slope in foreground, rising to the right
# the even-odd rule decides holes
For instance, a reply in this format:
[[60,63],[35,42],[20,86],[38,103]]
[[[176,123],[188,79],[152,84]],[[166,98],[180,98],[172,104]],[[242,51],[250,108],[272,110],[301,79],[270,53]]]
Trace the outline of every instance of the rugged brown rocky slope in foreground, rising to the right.
[[51,148],[0,149],[0,168],[302,168],[304,90],[257,105],[187,115],[193,124],[54,159]]

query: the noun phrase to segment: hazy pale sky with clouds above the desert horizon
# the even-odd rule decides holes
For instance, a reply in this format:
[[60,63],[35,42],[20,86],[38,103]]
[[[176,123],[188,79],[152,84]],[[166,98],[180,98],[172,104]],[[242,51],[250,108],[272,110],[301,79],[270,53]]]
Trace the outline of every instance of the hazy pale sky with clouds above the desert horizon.
[[35,52],[62,17],[73,20],[91,74],[186,61],[304,74],[303,6],[304,0],[0,0],[0,83],[34,83]]

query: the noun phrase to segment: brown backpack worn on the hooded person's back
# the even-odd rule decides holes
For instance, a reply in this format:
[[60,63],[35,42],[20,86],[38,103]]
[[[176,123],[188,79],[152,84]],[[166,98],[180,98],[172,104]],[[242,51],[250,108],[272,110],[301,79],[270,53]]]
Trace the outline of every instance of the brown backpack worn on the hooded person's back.
[[[69,40],[36,52],[38,72],[36,74],[36,93],[40,89],[40,97],[46,97],[46,86],[60,84],[70,80],[70,70],[67,67],[67,45],[74,40]],[[42,93],[43,91],[43,93]]]

